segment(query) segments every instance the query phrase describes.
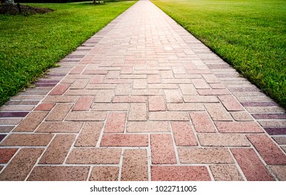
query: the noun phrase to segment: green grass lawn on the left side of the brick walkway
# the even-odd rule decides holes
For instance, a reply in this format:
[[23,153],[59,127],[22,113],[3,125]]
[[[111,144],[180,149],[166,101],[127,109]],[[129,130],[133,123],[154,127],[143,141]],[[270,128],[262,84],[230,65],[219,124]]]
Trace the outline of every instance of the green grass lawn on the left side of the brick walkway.
[[55,11],[0,15],[0,105],[135,2],[29,3]]

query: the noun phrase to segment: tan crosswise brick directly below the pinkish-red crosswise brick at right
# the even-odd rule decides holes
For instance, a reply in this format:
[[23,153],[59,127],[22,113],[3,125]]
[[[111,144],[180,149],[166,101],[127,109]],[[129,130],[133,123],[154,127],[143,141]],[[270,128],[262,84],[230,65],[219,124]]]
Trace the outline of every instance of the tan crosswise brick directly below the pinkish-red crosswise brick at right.
[[197,134],[202,146],[250,146],[243,134]]

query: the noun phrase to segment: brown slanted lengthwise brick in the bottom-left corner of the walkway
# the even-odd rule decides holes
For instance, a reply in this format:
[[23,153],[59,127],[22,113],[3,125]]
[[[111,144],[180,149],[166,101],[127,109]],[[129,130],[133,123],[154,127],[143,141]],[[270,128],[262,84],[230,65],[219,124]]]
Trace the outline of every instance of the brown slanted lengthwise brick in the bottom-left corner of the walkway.
[[0,180],[25,180],[43,151],[43,148],[22,148],[2,171]]

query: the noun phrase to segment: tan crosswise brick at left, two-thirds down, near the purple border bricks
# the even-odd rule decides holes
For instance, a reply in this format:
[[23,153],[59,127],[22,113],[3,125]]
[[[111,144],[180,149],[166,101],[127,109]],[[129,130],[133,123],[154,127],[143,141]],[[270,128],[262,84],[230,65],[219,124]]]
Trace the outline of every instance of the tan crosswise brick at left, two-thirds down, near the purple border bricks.
[[82,122],[43,122],[39,127],[38,132],[43,133],[77,133],[82,128]]

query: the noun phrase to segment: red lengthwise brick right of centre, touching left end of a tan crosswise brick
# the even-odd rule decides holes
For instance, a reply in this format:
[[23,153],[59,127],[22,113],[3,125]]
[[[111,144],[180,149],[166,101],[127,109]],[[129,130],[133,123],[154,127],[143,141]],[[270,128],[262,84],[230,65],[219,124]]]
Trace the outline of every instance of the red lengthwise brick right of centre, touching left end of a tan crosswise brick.
[[197,146],[197,140],[189,122],[172,122],[176,146]]

